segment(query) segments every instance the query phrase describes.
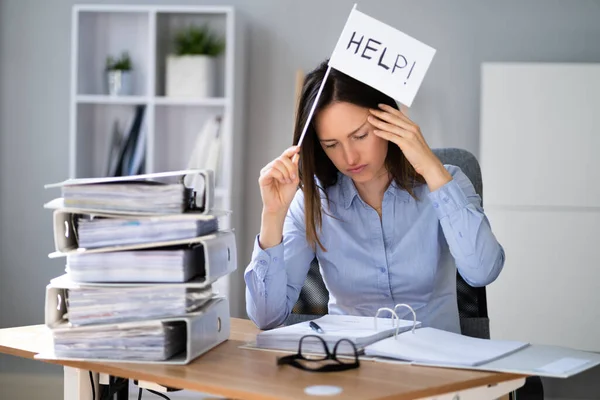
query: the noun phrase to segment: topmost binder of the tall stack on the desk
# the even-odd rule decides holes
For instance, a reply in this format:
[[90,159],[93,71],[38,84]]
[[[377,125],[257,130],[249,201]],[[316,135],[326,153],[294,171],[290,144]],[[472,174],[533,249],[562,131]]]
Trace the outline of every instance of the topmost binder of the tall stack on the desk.
[[[176,182],[170,182],[173,180]],[[196,186],[188,187],[186,182],[194,182]],[[45,208],[72,207],[90,213],[154,215],[191,211],[204,214],[213,210],[215,199],[214,172],[208,169],[67,179],[44,187],[62,191],[62,197],[46,203]]]

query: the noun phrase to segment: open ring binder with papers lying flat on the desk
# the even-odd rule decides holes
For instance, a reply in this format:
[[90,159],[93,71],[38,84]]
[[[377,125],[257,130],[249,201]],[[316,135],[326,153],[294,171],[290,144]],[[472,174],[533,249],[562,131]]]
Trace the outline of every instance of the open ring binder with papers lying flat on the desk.
[[[399,319],[396,314],[398,307],[412,311],[413,320]],[[379,318],[383,311],[391,313],[391,320]],[[407,304],[397,304],[394,309],[380,308],[373,317],[326,315],[314,320],[324,331],[322,334],[312,331],[308,322],[300,322],[261,332],[256,343],[247,343],[243,347],[297,351],[302,336],[319,335],[328,346],[341,338],[352,341],[359,348],[362,361],[551,378],[569,378],[600,365],[598,353],[519,341],[472,338],[423,327],[416,318],[415,311]],[[307,347],[307,351],[321,354],[322,345]]]

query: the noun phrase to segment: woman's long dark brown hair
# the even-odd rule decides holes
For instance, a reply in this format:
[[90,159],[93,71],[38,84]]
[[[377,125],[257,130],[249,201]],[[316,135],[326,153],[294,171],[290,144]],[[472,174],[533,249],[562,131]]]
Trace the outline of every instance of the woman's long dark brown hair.
[[[327,61],[324,61],[306,75],[296,113],[294,128],[295,145],[298,144],[326,71]],[[319,143],[314,121],[321,110],[333,103],[339,102],[374,109],[378,108],[378,104],[387,104],[398,109],[396,102],[391,97],[340,71],[331,69],[311,122],[302,140],[299,163],[300,188],[304,192],[306,239],[313,249],[316,249],[316,245],[318,244],[324,251],[325,248],[317,235],[317,230],[321,229],[323,220],[320,191],[325,194],[329,203],[329,197],[325,189],[336,184],[338,170]],[[412,189],[416,184],[424,183],[424,179],[416,173],[398,146],[388,146],[385,166],[396,185],[415,197]],[[315,177],[318,178],[321,187],[317,187]]]

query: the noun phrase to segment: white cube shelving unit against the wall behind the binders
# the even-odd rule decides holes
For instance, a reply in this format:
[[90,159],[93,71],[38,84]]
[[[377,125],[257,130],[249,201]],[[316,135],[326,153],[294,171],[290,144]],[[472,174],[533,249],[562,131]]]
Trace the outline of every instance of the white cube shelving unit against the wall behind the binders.
[[[191,24],[204,25],[225,39],[217,61],[216,97],[172,98],[165,96],[166,57],[174,47],[175,33]],[[76,5],[71,29],[71,93],[69,176],[104,176],[109,158],[113,124],[127,127],[137,105],[145,105],[145,172],[187,168],[193,144],[204,123],[222,117],[220,167],[216,171],[216,206],[233,211],[220,227],[241,231],[239,179],[241,150],[234,144],[241,116],[234,101],[234,78],[241,68],[236,56],[236,25],[227,6],[127,6]],[[133,67],[131,96],[109,96],[105,89],[106,58],[127,51]],[[236,67],[237,65],[237,67]],[[237,69],[236,69],[237,68]],[[239,90],[239,89],[238,89]],[[241,108],[241,107],[240,107]],[[238,121],[236,121],[236,119]],[[239,239],[238,239],[239,240]],[[239,269],[239,268],[238,268]],[[229,280],[217,289],[229,294]]]

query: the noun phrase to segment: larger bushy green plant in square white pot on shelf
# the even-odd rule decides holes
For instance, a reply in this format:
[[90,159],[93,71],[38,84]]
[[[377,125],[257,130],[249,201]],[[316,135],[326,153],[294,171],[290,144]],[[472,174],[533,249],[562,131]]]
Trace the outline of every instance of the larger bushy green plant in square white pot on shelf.
[[189,26],[175,36],[175,52],[167,56],[166,95],[169,97],[213,97],[216,58],[225,41],[207,25]]

